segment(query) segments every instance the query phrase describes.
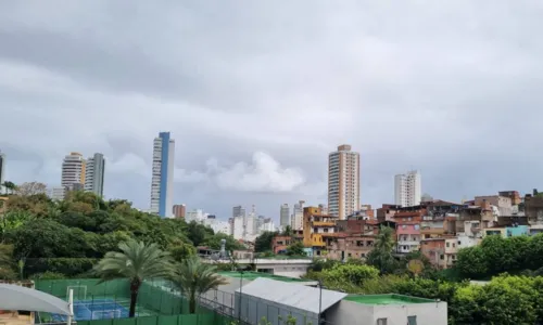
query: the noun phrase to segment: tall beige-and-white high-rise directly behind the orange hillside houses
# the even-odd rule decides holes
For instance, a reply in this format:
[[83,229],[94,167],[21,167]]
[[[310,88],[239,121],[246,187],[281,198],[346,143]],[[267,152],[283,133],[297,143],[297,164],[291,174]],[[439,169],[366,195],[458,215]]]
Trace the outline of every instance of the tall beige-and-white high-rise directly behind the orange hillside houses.
[[343,144],[328,155],[328,213],[340,220],[361,205],[361,159]]

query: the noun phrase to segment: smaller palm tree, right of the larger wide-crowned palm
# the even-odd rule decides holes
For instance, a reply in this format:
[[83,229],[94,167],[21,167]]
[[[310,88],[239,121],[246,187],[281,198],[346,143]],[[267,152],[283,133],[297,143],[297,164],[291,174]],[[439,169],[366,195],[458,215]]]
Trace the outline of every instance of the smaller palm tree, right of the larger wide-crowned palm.
[[216,268],[202,263],[200,258],[186,259],[172,277],[172,282],[189,299],[189,312],[197,311],[197,297],[228,284],[226,278],[216,273]]

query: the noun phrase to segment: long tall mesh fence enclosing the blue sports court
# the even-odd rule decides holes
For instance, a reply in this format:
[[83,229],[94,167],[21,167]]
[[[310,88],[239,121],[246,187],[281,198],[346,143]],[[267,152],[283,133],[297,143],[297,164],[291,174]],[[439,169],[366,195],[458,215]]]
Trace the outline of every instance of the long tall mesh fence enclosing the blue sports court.
[[[72,290],[75,321],[79,325],[317,325],[319,323],[316,313],[243,295],[242,290],[241,294],[236,292],[238,287],[231,291],[210,290],[201,295],[198,297],[197,312],[190,314],[188,300],[171,282],[146,281],[139,289],[136,318],[128,318],[130,303],[128,280],[104,283],[99,283],[99,280],[38,280],[36,288],[63,300],[67,300]],[[324,320],[325,316],[321,315],[320,324],[331,325]],[[137,320],[137,324],[130,323],[134,320]],[[36,323],[60,324],[65,323],[65,317],[37,313]]]

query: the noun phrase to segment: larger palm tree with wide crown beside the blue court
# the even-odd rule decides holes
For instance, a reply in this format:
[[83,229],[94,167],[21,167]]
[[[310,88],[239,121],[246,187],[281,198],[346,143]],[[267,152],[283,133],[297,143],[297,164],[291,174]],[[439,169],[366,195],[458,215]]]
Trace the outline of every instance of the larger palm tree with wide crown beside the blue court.
[[94,272],[101,282],[114,278],[130,281],[130,311],[128,316],[136,315],[138,290],[144,280],[169,277],[173,274],[173,264],[169,253],[160,249],[156,244],[144,244],[130,239],[118,245],[121,252],[109,251],[94,266]]

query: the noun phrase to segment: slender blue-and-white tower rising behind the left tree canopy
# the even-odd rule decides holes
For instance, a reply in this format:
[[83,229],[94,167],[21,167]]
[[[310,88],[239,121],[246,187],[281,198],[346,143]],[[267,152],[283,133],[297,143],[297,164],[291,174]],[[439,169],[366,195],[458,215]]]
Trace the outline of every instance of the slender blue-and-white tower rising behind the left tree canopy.
[[163,218],[173,214],[175,141],[169,132],[159,133],[153,142],[153,177],[151,180],[151,213]]

